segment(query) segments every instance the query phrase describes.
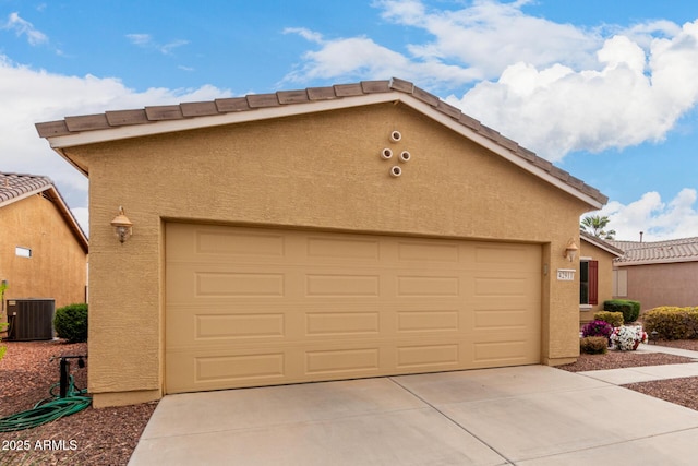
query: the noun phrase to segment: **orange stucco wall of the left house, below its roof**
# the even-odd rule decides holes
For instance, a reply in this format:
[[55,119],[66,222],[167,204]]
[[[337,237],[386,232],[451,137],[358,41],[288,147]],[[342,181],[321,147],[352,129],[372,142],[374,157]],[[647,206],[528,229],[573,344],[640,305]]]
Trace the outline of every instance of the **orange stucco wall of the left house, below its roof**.
[[[32,195],[0,208],[0,279],[5,299],[53,298],[56,308],[85,302],[87,255],[51,201]],[[15,254],[29,248],[31,258]]]

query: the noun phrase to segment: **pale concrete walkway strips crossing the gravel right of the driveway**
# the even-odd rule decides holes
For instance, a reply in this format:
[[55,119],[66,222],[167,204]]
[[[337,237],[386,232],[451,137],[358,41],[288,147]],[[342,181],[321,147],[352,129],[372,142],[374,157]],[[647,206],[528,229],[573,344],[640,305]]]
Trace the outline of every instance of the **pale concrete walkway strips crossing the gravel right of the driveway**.
[[637,368],[606,369],[598,371],[577,372],[591,379],[614,385],[626,385],[636,382],[650,382],[653,380],[679,379],[685,377],[698,377],[698,351],[688,349],[671,348],[659,345],[640,345],[638,353],[666,353],[669,355],[684,356],[691,358],[695,362],[664,366],[641,366]]

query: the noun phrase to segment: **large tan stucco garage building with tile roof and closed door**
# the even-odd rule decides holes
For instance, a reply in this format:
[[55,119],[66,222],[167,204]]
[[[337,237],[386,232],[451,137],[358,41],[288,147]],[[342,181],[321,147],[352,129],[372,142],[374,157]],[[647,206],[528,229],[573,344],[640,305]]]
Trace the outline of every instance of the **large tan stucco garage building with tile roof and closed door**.
[[37,130],[89,177],[97,407],[579,355],[558,270],[607,199],[409,82]]

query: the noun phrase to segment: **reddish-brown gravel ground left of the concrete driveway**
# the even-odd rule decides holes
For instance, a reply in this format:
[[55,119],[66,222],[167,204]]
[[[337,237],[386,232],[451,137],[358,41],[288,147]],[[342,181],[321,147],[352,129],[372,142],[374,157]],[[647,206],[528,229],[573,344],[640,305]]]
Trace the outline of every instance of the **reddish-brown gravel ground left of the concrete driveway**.
[[[60,380],[57,357],[87,354],[84,343],[3,342],[0,361],[0,417],[31,409],[50,397]],[[71,360],[75,386],[87,386],[87,369]],[[53,393],[59,393],[58,387]],[[93,409],[47,425],[0,433],[0,465],[125,465],[157,403]]]

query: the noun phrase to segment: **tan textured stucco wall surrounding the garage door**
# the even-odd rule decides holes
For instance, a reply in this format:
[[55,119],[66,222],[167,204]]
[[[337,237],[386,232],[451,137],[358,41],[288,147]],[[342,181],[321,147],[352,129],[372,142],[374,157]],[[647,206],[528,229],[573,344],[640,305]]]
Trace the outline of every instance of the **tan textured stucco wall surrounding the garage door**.
[[[397,144],[393,130],[402,133]],[[386,146],[412,154],[398,179],[388,175],[397,162],[378,155]],[[543,243],[541,360],[578,356],[579,286],[557,282],[554,271],[569,267],[562,251],[570,238],[579,242],[579,215],[589,206],[405,106],[67,153],[91,179],[89,391],[97,406],[159,396],[167,219]],[[134,224],[124,244],[109,225],[120,205]]]

